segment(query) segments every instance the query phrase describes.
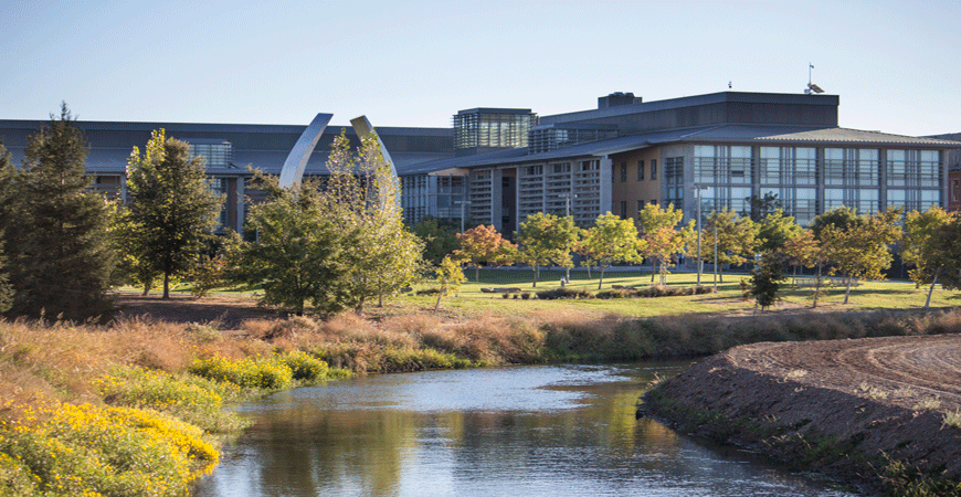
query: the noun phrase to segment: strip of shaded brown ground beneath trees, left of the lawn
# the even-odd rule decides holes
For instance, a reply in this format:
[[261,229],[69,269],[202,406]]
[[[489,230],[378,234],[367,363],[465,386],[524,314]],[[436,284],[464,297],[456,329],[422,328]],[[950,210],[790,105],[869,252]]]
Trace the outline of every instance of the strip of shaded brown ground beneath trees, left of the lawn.
[[256,306],[252,298],[208,296],[194,298],[189,295],[171,295],[162,299],[157,294],[146,297],[139,294],[119,294],[117,304],[120,311],[118,319],[125,317],[148,317],[169,322],[220,321],[221,329],[237,329],[247,319],[268,319],[277,317],[272,309]]

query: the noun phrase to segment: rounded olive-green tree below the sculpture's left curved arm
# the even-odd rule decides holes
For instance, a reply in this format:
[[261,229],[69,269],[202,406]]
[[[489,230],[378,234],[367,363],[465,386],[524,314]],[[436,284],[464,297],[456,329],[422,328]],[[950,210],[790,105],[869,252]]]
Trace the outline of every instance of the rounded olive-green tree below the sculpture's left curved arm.
[[330,309],[339,303],[346,274],[337,261],[346,246],[332,220],[324,212],[316,184],[305,182],[281,189],[276,179],[255,176],[267,191],[267,200],[249,211],[247,230],[257,232],[257,240],[244,244],[233,240],[228,260],[233,277],[251,285],[261,285],[260,304],[304,314],[310,303],[318,309]]

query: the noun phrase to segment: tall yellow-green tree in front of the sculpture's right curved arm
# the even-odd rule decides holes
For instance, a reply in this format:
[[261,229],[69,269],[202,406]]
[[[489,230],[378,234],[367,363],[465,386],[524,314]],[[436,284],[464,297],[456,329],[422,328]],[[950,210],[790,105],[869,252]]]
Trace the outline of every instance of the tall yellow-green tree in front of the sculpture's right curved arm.
[[394,295],[423,267],[423,243],[403,225],[400,187],[376,138],[365,137],[355,157],[346,131],[334,139],[324,210],[341,233],[346,274],[341,304],[357,313],[370,297]]

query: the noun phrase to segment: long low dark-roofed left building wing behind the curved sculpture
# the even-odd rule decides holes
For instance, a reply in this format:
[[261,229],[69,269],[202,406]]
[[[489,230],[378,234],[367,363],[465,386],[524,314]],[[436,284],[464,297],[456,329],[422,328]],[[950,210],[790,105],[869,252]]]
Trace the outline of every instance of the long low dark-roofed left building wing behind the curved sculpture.
[[[0,140],[11,152],[13,163],[23,160],[23,150],[30,135],[43,120],[0,120]],[[140,150],[155,129],[166,129],[167,136],[190,144],[193,156],[204,158],[211,187],[226,195],[221,213],[221,229],[242,231],[244,212],[250,197],[258,192],[249,190],[252,173],[249,168],[279,175],[284,160],[307,126],[188,124],[188,123],[75,123],[84,131],[89,145],[86,166],[94,187],[107,194],[126,194],[127,157],[136,146]],[[325,163],[334,137],[344,129],[351,146],[359,146],[350,126],[328,126],[310,155],[305,176],[325,176]],[[427,160],[454,157],[453,134],[447,128],[378,128],[378,135],[390,150],[399,168]]]

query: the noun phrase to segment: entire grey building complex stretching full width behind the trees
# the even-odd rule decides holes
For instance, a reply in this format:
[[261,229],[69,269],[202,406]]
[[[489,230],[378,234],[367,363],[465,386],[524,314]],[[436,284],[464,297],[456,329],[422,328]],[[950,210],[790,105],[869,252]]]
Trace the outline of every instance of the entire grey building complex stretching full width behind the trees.
[[[643,102],[631,93],[596,108],[553,116],[478,107],[453,128],[378,128],[400,177],[404,220],[424,216],[494,224],[510,234],[537,212],[580,225],[611,211],[635,218],[645,203],[697,212],[748,212],[751,199],[777,195],[801,224],[836,207],[859,213],[888,207],[958,208],[958,135],[907,137],[842,128],[836,95],[722,92]],[[44,121],[0,120],[0,139],[22,160]],[[96,188],[123,197],[126,159],[150,131],[188,141],[205,159],[211,186],[226,194],[223,228],[241,230],[249,168],[277,175],[306,126],[77,121]],[[324,176],[329,126],[306,175]],[[359,145],[351,127],[346,127]],[[950,178],[949,178],[950,176]],[[256,199],[254,199],[256,200]]]

